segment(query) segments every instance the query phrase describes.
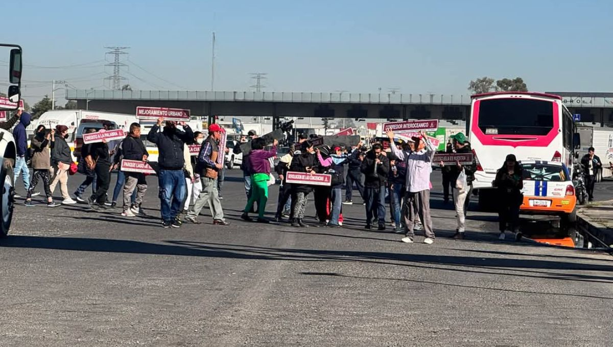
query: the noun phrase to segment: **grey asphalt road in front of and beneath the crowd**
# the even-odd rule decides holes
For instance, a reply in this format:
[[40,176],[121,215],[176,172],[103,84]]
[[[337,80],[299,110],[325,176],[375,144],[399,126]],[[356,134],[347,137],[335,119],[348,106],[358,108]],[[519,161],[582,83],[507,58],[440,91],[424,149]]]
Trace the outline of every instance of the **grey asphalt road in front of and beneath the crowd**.
[[0,240],[0,346],[611,345],[610,255],[498,241],[476,212],[468,239],[449,239],[439,176],[433,245],[362,229],[357,204],[343,229],[243,222],[238,177],[224,185],[231,226],[205,211],[161,228],[155,177],[149,218],[17,206]]

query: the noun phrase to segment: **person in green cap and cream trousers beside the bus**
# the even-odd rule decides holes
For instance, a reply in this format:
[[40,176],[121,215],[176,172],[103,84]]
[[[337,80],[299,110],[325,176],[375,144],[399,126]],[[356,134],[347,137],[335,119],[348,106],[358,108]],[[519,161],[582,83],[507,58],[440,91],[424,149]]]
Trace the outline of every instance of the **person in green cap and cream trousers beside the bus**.
[[[452,135],[451,139],[455,147],[455,153],[472,154],[473,150],[463,133]],[[441,166],[444,168],[443,162],[441,162]],[[474,171],[477,171],[477,164],[473,157],[471,165],[461,165],[460,162],[455,162],[455,165],[448,167],[449,181],[451,181],[451,186],[453,187],[455,217],[457,218],[457,229],[455,229],[455,234],[452,237],[462,240],[464,239],[466,226],[466,209],[468,203],[470,203],[470,193],[473,191]],[[459,189],[457,188],[457,180],[462,171],[466,176],[466,186]]]

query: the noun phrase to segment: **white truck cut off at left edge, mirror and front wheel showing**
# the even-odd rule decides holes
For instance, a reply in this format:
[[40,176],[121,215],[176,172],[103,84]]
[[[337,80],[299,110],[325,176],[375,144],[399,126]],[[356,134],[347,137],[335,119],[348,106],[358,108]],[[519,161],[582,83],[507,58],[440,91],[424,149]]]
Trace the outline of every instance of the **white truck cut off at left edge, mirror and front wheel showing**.
[[[18,110],[21,106],[21,47],[0,43],[0,48],[10,49],[9,62],[9,92],[7,97],[0,98],[0,109],[4,111]],[[15,202],[15,188],[13,185],[13,167],[17,159],[15,139],[12,133],[0,129],[0,237],[7,236],[10,223],[13,220],[13,204]]]

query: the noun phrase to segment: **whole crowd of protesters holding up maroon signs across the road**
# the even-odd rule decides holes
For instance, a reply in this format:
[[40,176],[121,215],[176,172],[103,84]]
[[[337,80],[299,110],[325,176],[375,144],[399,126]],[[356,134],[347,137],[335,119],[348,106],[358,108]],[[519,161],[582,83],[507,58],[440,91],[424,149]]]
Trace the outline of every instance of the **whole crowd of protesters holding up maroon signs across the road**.
[[[46,129],[39,125],[29,146],[25,135],[31,116],[28,113],[15,115],[0,124],[13,130],[17,145],[15,179],[23,179],[27,195],[25,205],[32,207],[32,196],[39,181],[42,181],[48,207],[60,206],[53,201],[53,192],[59,184],[63,200],[61,204],[87,203],[92,209],[111,209],[121,206],[123,217],[144,215],[143,199],[147,192],[145,173],[121,170],[121,160],[147,162],[147,147],[141,140],[140,124],[129,126],[123,140],[85,144],[81,149],[78,165],[73,168],[70,147],[66,143],[68,128],[57,125]],[[185,122],[158,119],[147,134],[147,140],[156,144],[159,151],[156,173],[158,176],[159,210],[164,228],[180,228],[183,222],[200,224],[199,215],[206,206],[210,209],[213,224],[229,225],[224,217],[221,200],[223,161],[219,141],[223,129],[217,124],[208,127],[208,136],[193,132]],[[112,123],[104,122],[103,129],[110,130]],[[89,129],[88,132],[96,132]],[[435,229],[430,212],[430,176],[433,169],[435,148],[424,133],[406,140],[397,140],[393,132],[387,133],[387,148],[381,141],[368,148],[361,142],[353,146],[314,146],[313,138],[299,136],[297,143],[289,144],[289,152],[281,156],[275,165],[278,141],[272,146],[260,138],[254,130],[242,136],[232,149],[241,153],[241,144],[249,142],[250,150],[243,154],[241,170],[245,186],[246,204],[241,218],[246,221],[270,223],[265,217],[269,200],[268,187],[280,181],[276,199],[274,221],[289,223],[296,228],[307,228],[305,213],[312,193],[312,200],[319,227],[342,228],[343,205],[354,204],[354,185],[364,201],[365,228],[385,231],[390,220],[394,233],[405,234],[403,242],[413,243],[415,230],[423,229],[425,244],[435,240]],[[191,155],[188,145],[197,144],[200,151]],[[224,149],[227,153],[229,149]],[[462,133],[451,136],[447,152],[470,153],[470,143]],[[455,239],[465,237],[465,216],[470,202],[472,181],[476,164],[461,165],[456,162],[435,163],[443,174],[444,203],[450,196],[455,206],[457,229]],[[28,166],[32,168],[29,177]],[[109,201],[110,173],[117,171],[116,184]],[[85,180],[69,195],[67,180],[74,171],[83,174]],[[308,182],[289,183],[287,173],[329,174],[329,186],[311,185]],[[273,175],[276,173],[276,177]],[[462,177],[462,184],[459,184]],[[91,185],[92,194],[84,198]],[[494,186],[500,190],[506,203],[500,210],[501,238],[504,231],[517,231],[522,174],[517,160],[509,155],[498,171]],[[344,190],[344,191],[343,191]],[[123,193],[123,196],[122,194]],[[120,199],[121,198],[121,199]],[[389,205],[388,205],[389,204]],[[387,214],[389,211],[389,216]],[[252,218],[254,216],[254,218]],[[287,218],[287,219],[286,219]]]

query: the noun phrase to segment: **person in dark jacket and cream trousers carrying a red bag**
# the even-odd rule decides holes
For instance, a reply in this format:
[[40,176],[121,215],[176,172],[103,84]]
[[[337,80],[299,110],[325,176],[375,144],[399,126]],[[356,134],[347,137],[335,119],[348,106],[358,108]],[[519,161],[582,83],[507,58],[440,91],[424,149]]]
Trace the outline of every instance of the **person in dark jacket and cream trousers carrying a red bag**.
[[66,143],[68,137],[68,127],[66,125],[56,125],[55,136],[51,136],[51,165],[53,166],[53,181],[49,185],[51,195],[55,190],[55,186],[59,183],[59,191],[62,193],[64,200],[62,204],[72,205],[77,201],[72,200],[68,194],[68,169],[72,163],[72,155],[70,147]]

